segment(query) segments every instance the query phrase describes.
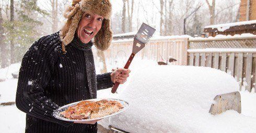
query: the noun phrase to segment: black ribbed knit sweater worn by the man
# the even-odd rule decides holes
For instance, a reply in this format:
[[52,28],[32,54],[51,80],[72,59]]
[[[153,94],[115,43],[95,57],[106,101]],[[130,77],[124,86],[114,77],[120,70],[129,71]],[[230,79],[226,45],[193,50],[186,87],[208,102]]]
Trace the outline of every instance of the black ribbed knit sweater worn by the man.
[[97,124],[73,124],[52,116],[68,103],[97,97],[113,86],[110,73],[95,74],[92,43],[75,35],[61,50],[59,32],[41,37],[26,52],[19,71],[16,106],[27,113],[26,132],[97,132]]

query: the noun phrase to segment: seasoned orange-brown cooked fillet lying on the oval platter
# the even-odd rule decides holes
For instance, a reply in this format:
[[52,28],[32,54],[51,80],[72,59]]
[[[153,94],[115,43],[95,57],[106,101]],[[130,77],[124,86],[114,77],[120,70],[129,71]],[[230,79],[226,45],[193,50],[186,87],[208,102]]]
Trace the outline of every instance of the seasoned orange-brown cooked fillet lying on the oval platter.
[[122,108],[123,105],[120,102],[113,100],[82,101],[68,107],[61,112],[61,115],[68,119],[99,118],[118,112]]

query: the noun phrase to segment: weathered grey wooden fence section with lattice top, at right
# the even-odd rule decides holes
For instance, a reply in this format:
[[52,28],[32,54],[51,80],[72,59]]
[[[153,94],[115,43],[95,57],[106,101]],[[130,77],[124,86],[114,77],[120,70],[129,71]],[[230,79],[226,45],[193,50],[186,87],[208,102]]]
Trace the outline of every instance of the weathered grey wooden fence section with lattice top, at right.
[[191,39],[188,65],[211,67],[235,77],[240,89],[256,89],[256,37]]

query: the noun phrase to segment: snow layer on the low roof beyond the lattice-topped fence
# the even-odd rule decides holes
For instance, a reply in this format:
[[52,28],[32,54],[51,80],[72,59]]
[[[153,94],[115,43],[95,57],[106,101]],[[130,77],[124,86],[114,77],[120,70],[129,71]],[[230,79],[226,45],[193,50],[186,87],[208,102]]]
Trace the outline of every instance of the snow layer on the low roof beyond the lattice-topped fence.
[[246,25],[246,24],[255,24],[256,20],[250,20],[250,21],[241,21],[241,22],[234,22],[234,23],[222,23],[222,24],[216,24],[216,25],[209,25],[205,26],[204,28],[217,28],[218,31],[224,32],[225,30],[229,29],[231,26],[238,26],[238,25]]

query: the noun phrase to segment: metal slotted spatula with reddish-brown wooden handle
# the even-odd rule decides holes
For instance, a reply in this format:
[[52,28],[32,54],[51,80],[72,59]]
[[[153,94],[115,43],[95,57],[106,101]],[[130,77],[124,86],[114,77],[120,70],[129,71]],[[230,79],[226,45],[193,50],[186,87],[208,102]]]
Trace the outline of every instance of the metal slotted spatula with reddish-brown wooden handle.
[[[124,69],[128,69],[135,54],[137,54],[138,51],[142,50],[145,47],[145,44],[148,43],[149,39],[152,37],[152,35],[155,33],[156,29],[150,27],[149,25],[142,23],[141,28],[139,28],[137,34],[134,37],[133,41],[133,51],[126,62]],[[115,82],[115,85],[113,86],[111,92],[114,94],[115,91],[117,91],[118,86],[120,83]]]

